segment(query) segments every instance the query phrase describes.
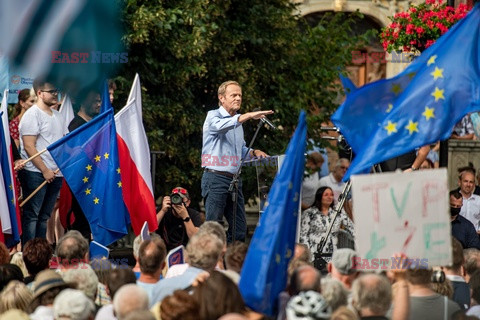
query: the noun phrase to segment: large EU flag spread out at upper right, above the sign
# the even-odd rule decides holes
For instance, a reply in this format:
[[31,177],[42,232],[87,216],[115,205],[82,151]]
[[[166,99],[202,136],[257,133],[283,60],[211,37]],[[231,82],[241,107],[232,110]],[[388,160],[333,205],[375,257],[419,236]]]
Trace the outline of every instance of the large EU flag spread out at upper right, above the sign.
[[480,110],[480,12],[476,5],[397,76],[347,95],[332,116],[356,153],[345,174],[447,139]]

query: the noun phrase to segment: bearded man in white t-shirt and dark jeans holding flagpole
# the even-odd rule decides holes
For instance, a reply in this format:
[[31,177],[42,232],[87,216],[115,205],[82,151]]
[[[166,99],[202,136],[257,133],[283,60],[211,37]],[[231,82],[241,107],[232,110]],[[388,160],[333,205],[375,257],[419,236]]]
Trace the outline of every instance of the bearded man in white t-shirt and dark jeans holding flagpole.
[[[20,150],[27,159],[65,134],[63,118],[52,107],[58,103],[58,90],[49,82],[35,79],[33,89],[37,103],[29,108],[20,121]],[[62,186],[61,174],[50,153],[44,152],[25,165],[19,172],[24,197],[28,197],[45,180],[48,182],[24,206],[22,216],[22,242],[45,238],[47,220]]]

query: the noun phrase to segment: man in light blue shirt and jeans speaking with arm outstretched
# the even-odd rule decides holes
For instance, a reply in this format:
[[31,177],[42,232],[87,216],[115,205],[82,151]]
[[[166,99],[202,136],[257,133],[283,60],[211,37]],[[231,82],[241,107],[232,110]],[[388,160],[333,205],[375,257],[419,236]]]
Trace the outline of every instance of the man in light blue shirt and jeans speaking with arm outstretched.
[[[209,111],[203,124],[202,196],[205,200],[207,220],[221,221],[223,215],[229,224],[228,242],[245,241],[247,224],[242,182],[238,184],[237,213],[233,216],[230,182],[238,170],[242,157],[266,157],[261,150],[250,150],[243,137],[242,123],[258,120],[273,111],[256,111],[237,114],[242,104],[242,88],[235,81],[226,81],[218,88],[219,108]],[[233,191],[235,192],[235,190]],[[235,219],[235,220],[234,220]],[[235,221],[235,230],[233,224]],[[235,232],[235,235],[233,233]]]

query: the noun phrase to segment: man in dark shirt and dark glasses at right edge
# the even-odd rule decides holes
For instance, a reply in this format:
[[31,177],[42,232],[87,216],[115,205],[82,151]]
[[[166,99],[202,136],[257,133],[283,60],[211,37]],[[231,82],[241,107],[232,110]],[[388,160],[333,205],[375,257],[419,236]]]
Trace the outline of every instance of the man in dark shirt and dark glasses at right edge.
[[460,215],[463,205],[462,194],[458,190],[450,191],[450,215],[452,236],[462,244],[463,249],[480,249],[480,240],[473,224]]

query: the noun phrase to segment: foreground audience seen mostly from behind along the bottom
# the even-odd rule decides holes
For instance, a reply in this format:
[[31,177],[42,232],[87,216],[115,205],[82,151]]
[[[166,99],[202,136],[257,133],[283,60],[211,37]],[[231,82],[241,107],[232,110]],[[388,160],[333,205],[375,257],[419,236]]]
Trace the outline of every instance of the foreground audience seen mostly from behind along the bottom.
[[132,268],[90,259],[88,240],[72,230],[55,252],[42,238],[14,257],[0,245],[0,319],[475,319],[480,251],[451,241],[449,266],[370,272],[353,249],[338,248],[326,274],[298,243],[277,312],[267,316],[249,309],[237,286],[247,245],[228,244],[217,222],[203,223],[188,241],[186,263],[168,271],[155,233],[135,239]]

